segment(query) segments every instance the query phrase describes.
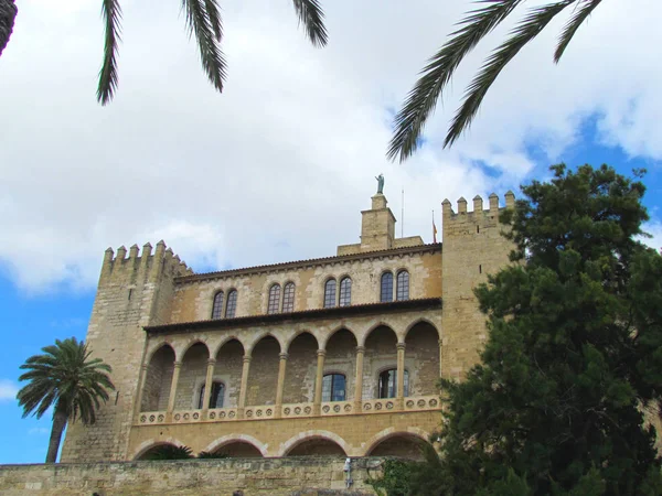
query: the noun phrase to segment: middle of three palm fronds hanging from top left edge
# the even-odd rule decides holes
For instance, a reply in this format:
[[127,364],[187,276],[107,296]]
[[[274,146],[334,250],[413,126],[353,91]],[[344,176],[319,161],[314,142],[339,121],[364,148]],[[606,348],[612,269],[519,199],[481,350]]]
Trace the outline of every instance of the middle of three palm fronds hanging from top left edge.
[[216,0],[182,0],[189,35],[195,35],[202,68],[218,91],[223,91],[226,64],[221,51],[222,24]]

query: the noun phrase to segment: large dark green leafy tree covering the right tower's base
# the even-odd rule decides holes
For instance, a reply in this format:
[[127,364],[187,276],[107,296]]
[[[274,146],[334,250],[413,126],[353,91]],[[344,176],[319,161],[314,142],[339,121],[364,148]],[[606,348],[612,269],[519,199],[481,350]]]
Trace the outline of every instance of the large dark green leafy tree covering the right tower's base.
[[644,186],[607,165],[552,170],[502,218],[514,263],[476,290],[489,339],[465,381],[442,380],[441,457],[412,494],[662,494],[642,413],[662,390]]

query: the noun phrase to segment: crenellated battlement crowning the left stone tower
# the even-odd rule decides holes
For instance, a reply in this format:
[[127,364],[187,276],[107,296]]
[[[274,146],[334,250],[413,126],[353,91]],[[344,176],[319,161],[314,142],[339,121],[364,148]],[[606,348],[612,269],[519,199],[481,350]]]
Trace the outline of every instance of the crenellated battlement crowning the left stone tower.
[[157,244],[157,248],[152,255],[152,246],[146,242],[142,246],[142,251],[138,245],[127,249],[120,246],[117,254],[113,248],[106,249],[104,255],[104,265],[102,268],[102,280],[114,279],[131,279],[130,282],[154,282],[158,277],[167,271],[173,277],[191,276],[193,270],[186,266],[186,262],[180,260],[178,255],[174,255],[171,248],[166,246],[163,240]]

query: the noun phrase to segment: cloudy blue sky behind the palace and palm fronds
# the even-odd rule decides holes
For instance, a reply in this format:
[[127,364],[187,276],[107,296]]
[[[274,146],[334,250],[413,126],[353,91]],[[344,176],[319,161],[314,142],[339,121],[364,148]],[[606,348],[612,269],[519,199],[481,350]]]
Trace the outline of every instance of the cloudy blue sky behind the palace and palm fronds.
[[405,236],[431,241],[430,211],[439,227],[444,198],[495,192],[503,203],[564,161],[648,169],[650,242],[662,247],[654,0],[604,2],[558,65],[563,20],[551,25],[442,150],[465,86],[509,26],[495,32],[460,66],[404,164],[385,159],[393,111],[469,1],[324,2],[331,42],[317,50],[287,1],[228,0],[223,95],[206,83],[177,2],[148,3],[122,2],[108,107],[95,101],[98,2],[21,3],[0,58],[0,114],[11,121],[0,134],[0,463],[45,457],[50,419],[21,419],[19,366],[55,338],[85,337],[108,246],[164,239],[196,271],[333,255],[359,240],[380,172],[398,222],[405,190]]

